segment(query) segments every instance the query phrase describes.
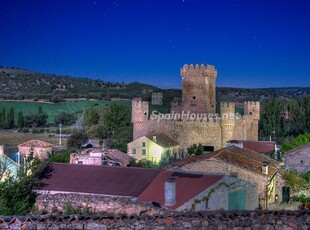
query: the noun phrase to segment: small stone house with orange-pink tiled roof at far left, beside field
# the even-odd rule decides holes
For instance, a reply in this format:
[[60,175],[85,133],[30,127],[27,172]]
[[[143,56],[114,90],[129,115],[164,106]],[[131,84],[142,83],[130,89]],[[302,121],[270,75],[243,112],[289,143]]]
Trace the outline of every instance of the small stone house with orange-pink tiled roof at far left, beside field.
[[52,154],[52,148],[53,145],[45,141],[31,140],[18,145],[18,152],[25,158],[32,153],[33,157],[48,159]]

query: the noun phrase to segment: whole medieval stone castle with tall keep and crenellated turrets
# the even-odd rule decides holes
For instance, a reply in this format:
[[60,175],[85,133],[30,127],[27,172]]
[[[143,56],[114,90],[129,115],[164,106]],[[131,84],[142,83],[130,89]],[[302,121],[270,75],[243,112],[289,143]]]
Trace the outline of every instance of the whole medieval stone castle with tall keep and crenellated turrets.
[[133,140],[164,133],[186,151],[202,144],[204,151],[226,146],[229,140],[257,140],[260,118],[259,102],[244,102],[244,114],[236,115],[235,103],[220,103],[216,113],[217,70],[211,65],[184,65],[182,102],[172,102],[170,114],[149,112],[149,102],[132,101]]

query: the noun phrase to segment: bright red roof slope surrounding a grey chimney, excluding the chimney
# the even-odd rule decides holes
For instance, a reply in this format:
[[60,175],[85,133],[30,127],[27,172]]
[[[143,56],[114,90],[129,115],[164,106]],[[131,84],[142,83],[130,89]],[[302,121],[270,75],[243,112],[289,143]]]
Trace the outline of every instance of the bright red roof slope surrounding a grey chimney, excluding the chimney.
[[205,191],[223,175],[206,175],[188,172],[161,171],[150,185],[139,195],[138,200],[143,202],[158,202],[165,204],[165,180],[176,178],[176,202],[167,208],[176,209],[199,193]]

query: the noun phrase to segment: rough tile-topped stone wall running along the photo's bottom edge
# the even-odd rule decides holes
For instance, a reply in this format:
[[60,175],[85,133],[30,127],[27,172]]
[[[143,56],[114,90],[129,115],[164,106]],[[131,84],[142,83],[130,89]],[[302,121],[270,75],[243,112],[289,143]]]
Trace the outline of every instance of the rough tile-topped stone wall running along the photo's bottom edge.
[[0,216],[0,229],[298,229],[310,228],[310,211],[215,211],[162,215]]

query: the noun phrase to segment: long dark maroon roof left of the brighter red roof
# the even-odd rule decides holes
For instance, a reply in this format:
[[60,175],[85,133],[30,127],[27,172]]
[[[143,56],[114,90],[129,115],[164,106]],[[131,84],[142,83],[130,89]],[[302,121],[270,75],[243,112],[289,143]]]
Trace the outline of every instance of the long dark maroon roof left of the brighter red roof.
[[45,172],[38,190],[137,197],[160,170],[52,163]]

